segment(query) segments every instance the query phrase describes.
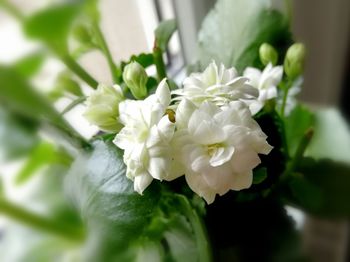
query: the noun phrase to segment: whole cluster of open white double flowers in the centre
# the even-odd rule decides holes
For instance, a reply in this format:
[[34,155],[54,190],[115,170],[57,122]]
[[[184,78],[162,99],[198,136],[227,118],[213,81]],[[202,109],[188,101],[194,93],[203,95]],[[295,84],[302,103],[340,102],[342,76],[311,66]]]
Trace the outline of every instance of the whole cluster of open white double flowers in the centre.
[[184,175],[212,203],[216,194],[249,188],[258,154],[272,149],[252,114],[277,96],[282,71],[269,64],[241,77],[213,62],[186,78],[182,89],[171,93],[164,79],[146,99],[118,102],[123,128],[114,143],[124,150],[134,189],[142,194],[153,179]]

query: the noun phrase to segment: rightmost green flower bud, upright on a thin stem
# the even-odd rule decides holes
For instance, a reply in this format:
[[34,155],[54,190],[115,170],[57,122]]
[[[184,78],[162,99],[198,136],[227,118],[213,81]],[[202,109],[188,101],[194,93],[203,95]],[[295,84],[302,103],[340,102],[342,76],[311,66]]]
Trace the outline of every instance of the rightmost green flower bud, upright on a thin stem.
[[296,79],[303,72],[305,60],[305,46],[302,43],[295,43],[288,48],[284,58],[284,71],[291,79]]

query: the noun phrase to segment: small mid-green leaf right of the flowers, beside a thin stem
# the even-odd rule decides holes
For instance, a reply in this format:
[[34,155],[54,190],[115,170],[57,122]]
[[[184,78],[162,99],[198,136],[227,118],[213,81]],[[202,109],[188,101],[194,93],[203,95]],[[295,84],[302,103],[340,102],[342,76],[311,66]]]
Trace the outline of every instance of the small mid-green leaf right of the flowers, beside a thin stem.
[[291,156],[294,156],[298,144],[306,130],[314,126],[315,116],[309,109],[299,104],[293,109],[290,115],[284,119],[284,123],[289,153]]

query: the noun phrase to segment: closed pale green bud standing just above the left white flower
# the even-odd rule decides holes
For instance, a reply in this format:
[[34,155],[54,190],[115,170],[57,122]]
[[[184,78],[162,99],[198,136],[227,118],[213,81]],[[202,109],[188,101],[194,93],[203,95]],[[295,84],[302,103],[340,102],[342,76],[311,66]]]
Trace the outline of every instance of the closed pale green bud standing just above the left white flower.
[[123,79],[136,99],[147,96],[146,83],[148,80],[145,69],[137,62],[131,62],[124,68]]

